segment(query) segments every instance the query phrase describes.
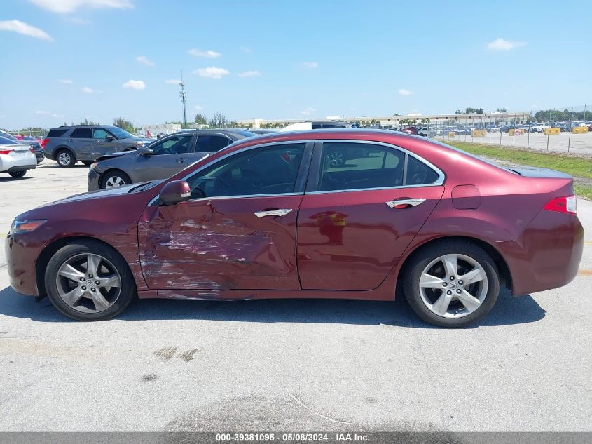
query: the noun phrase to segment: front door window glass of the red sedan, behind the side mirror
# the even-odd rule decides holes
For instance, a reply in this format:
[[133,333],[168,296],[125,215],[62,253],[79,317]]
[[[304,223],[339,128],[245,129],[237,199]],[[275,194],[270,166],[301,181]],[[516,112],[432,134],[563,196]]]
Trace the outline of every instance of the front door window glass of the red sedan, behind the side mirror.
[[305,144],[277,144],[233,154],[188,179],[192,197],[294,192]]

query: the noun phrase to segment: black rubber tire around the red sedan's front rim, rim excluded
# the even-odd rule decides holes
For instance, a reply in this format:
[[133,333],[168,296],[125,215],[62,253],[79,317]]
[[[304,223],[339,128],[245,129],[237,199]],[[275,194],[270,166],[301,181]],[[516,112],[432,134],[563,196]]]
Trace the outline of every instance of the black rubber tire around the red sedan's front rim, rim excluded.
[[[95,313],[84,313],[70,307],[62,300],[60,292],[57,289],[57,271],[62,264],[72,257],[89,253],[100,255],[111,262],[121,277],[120,292],[116,300],[114,300],[109,308]],[[132,272],[123,257],[116,250],[113,250],[113,248],[92,240],[76,241],[76,243],[71,243],[57,250],[57,253],[49,260],[46,267],[45,284],[47,295],[54,307],[60,313],[69,318],[76,319],[76,321],[104,321],[114,318],[128,307],[136,295],[136,286]]]

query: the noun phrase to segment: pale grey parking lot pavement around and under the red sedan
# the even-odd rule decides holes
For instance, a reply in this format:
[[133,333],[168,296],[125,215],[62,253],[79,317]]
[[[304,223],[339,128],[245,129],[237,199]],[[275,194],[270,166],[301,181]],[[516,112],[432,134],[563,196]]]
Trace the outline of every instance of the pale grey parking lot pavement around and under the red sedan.
[[[86,190],[45,161],[0,177],[0,233]],[[395,302],[138,301],[78,323],[8,285],[0,431],[592,431],[592,203],[580,275],[443,330]]]

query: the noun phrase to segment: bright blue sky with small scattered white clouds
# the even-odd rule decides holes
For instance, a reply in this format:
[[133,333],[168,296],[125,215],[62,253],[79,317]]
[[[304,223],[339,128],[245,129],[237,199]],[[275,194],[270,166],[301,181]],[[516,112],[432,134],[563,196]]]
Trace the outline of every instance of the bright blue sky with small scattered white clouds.
[[[3,0],[0,127],[592,102],[588,1]],[[172,81],[172,83],[166,83]]]

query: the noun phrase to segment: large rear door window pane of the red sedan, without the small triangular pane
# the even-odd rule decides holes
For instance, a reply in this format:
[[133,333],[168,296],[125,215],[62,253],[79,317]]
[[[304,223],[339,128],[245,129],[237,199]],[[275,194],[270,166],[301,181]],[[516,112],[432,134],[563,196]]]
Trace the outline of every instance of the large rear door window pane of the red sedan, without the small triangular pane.
[[399,187],[405,153],[376,144],[328,142],[322,147],[319,191]]

